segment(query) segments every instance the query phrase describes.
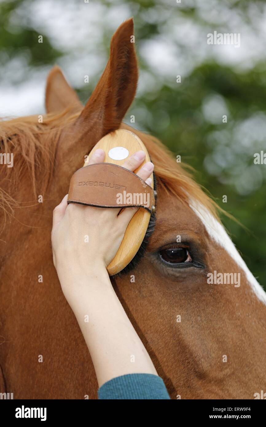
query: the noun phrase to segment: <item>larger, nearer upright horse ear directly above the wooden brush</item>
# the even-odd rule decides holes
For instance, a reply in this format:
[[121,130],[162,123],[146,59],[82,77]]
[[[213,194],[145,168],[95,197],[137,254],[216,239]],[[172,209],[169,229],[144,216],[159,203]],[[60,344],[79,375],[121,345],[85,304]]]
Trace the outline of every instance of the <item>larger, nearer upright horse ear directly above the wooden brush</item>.
[[133,33],[132,18],[121,24],[114,33],[110,58],[79,117],[83,131],[91,127],[91,120],[100,128],[101,137],[120,127],[137,89],[137,58]]

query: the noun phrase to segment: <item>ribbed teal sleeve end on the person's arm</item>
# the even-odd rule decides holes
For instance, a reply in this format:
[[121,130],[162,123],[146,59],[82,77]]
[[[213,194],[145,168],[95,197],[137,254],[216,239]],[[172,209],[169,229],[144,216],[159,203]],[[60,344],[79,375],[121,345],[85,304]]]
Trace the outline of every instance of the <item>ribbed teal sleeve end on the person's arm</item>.
[[153,374],[127,374],[113,378],[98,390],[99,399],[170,399],[164,381]]

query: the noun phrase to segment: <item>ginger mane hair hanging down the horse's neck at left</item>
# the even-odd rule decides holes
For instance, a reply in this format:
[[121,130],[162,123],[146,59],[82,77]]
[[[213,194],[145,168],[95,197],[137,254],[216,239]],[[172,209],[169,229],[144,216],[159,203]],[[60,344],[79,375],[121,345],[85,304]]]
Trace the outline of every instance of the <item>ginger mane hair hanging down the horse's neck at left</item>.
[[0,153],[12,152],[14,167],[0,167],[0,209],[5,217],[14,216],[14,209],[21,204],[12,193],[25,175],[35,198],[37,186],[47,188],[61,130],[74,117],[69,117],[69,111],[65,110],[59,114],[7,119],[0,119]]

